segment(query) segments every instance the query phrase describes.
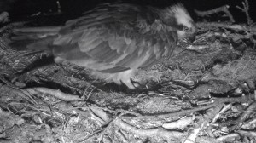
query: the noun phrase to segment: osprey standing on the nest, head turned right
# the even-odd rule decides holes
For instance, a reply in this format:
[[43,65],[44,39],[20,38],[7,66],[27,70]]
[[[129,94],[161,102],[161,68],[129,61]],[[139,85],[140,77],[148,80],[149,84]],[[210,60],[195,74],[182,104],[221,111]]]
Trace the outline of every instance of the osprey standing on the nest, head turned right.
[[27,49],[50,51],[56,63],[68,61],[89,68],[98,78],[135,89],[135,72],[170,57],[177,40],[193,38],[195,31],[182,4],[157,9],[105,3],[65,26],[15,29],[12,39],[26,40]]

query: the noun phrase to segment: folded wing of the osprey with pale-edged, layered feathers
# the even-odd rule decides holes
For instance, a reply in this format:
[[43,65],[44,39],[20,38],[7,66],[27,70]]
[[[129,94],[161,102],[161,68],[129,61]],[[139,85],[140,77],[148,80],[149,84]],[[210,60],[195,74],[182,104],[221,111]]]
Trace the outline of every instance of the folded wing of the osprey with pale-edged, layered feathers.
[[129,4],[103,5],[68,21],[55,39],[55,55],[108,73],[152,66],[172,53],[177,33],[150,28],[154,14],[145,11]]

